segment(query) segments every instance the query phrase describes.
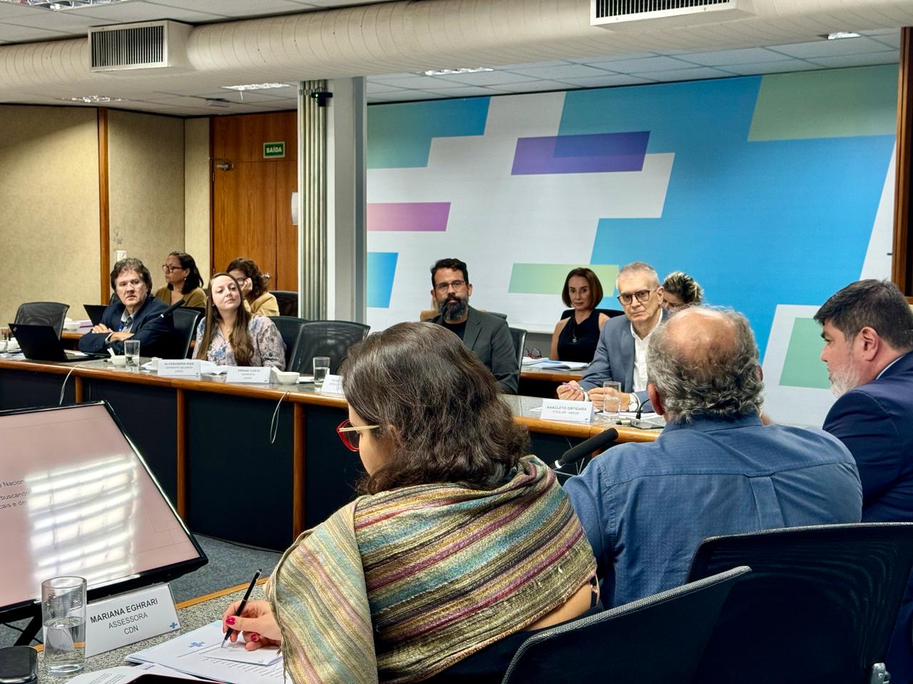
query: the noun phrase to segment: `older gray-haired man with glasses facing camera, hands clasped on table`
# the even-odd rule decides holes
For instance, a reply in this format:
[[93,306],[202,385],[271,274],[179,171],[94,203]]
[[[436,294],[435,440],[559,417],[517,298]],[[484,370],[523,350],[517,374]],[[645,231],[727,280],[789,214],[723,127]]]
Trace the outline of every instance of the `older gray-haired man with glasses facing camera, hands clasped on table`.
[[[615,316],[603,326],[593,363],[579,383],[561,385],[558,397],[578,401],[589,397],[597,409],[602,408],[606,396],[618,397],[623,410],[636,410],[648,404],[646,347],[656,326],[667,316],[660,306],[663,287],[656,269],[639,261],[622,266],[615,287],[624,316]],[[606,380],[618,382],[621,391],[603,389]]]

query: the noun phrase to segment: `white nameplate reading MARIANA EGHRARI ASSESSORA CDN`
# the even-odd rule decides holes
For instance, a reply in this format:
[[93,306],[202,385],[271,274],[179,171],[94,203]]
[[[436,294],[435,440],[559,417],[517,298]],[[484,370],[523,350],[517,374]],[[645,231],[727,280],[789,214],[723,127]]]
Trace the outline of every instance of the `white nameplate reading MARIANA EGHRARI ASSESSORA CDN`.
[[86,658],[180,627],[168,585],[93,601],[86,606]]

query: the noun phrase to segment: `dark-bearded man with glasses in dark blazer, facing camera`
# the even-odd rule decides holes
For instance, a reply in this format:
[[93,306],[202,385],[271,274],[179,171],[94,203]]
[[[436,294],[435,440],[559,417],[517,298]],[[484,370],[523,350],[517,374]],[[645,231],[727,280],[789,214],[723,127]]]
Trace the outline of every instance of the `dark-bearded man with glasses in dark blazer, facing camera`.
[[465,262],[439,259],[431,267],[431,295],[441,312],[431,319],[455,333],[498,380],[505,394],[517,394],[519,361],[508,322],[469,306],[472,285]]

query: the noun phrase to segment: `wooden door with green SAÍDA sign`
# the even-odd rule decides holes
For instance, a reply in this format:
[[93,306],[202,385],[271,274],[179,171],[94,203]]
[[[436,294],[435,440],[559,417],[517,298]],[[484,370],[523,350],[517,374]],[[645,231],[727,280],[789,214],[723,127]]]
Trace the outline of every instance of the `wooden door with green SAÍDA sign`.
[[[291,193],[298,189],[295,112],[212,119],[213,270],[237,256],[270,274],[269,289],[298,289],[298,231]],[[264,159],[263,143],[285,142],[284,158]],[[232,169],[216,168],[230,161]]]

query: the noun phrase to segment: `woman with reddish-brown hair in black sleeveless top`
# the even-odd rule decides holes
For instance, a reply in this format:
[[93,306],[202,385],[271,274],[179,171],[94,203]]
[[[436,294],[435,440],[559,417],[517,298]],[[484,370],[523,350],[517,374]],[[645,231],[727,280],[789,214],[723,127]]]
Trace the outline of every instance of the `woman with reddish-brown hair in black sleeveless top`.
[[599,344],[599,333],[609,316],[596,311],[603,301],[603,284],[589,268],[575,268],[564,278],[561,301],[572,308],[561,314],[551,334],[549,358],[589,363]]

